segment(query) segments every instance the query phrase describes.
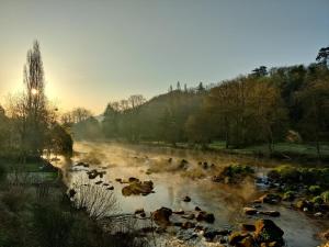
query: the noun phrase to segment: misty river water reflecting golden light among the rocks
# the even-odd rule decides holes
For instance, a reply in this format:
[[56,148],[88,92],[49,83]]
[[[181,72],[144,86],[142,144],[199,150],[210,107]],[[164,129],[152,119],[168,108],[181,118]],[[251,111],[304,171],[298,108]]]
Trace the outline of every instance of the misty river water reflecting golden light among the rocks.
[[[223,184],[212,181],[212,177],[222,167],[230,164],[245,162],[254,165],[258,176],[263,176],[272,164],[263,164],[261,160],[236,158],[229,155],[216,155],[200,150],[174,149],[168,147],[152,147],[143,145],[123,145],[114,143],[75,143],[75,156],[70,161],[55,164],[64,171],[64,180],[70,187],[75,179],[84,176],[87,170],[105,170],[104,177],[89,180],[94,183],[102,181],[114,187],[114,194],[118,202],[117,213],[134,213],[137,209],[144,209],[148,214],[161,206],[173,211],[193,210],[195,206],[215,215],[213,228],[237,228],[240,223],[253,222],[256,216],[246,216],[242,207],[252,200],[263,194],[263,189],[254,181],[246,181],[242,184]],[[169,164],[169,159],[172,161]],[[188,161],[184,170],[179,170],[178,165],[182,159]],[[78,161],[90,165],[88,168],[75,169]],[[214,164],[214,169],[203,170],[200,161]],[[197,173],[197,178],[195,176]],[[122,188],[126,184],[115,179],[151,180],[155,193],[147,195],[124,197]],[[189,195],[191,202],[182,199]],[[316,234],[325,229],[324,223],[307,217],[303,212],[284,205],[264,205],[265,210],[275,210],[280,217],[271,218],[284,231],[284,239],[290,247],[315,247],[320,244]],[[264,216],[266,217],[266,216]]]

